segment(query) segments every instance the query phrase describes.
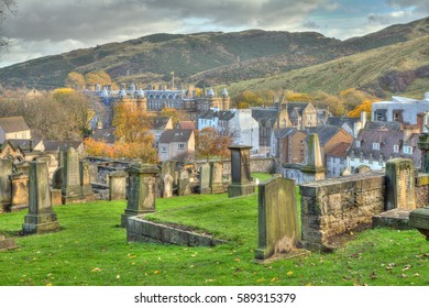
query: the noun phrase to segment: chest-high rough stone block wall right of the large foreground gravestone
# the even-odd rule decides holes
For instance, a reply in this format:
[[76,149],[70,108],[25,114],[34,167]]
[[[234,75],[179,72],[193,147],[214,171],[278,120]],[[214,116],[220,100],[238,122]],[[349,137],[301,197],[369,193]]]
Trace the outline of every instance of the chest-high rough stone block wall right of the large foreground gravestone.
[[330,249],[330,239],[370,224],[384,211],[385,175],[371,173],[299,186],[302,242],[306,249]]

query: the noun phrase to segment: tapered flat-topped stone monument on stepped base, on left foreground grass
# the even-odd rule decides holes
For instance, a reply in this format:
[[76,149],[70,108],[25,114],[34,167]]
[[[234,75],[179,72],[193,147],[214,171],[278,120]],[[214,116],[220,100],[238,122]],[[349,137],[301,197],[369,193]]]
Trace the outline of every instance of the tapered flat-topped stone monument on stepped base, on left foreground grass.
[[56,213],[52,209],[46,162],[30,163],[29,213],[24,218],[24,234],[59,230]]

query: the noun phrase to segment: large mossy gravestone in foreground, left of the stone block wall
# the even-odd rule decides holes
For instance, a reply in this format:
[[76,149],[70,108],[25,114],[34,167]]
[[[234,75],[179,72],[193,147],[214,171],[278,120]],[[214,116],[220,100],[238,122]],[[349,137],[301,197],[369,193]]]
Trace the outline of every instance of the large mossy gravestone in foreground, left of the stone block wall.
[[258,185],[256,260],[301,254],[295,180],[274,177]]

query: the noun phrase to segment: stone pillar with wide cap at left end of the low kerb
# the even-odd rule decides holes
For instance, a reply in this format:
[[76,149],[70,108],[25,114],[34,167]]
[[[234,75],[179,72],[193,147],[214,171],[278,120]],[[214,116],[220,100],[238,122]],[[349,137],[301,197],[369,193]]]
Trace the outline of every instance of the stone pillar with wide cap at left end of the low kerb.
[[155,165],[135,164],[127,168],[129,174],[128,202],[121,227],[127,227],[128,217],[155,212],[155,184],[160,173]]

